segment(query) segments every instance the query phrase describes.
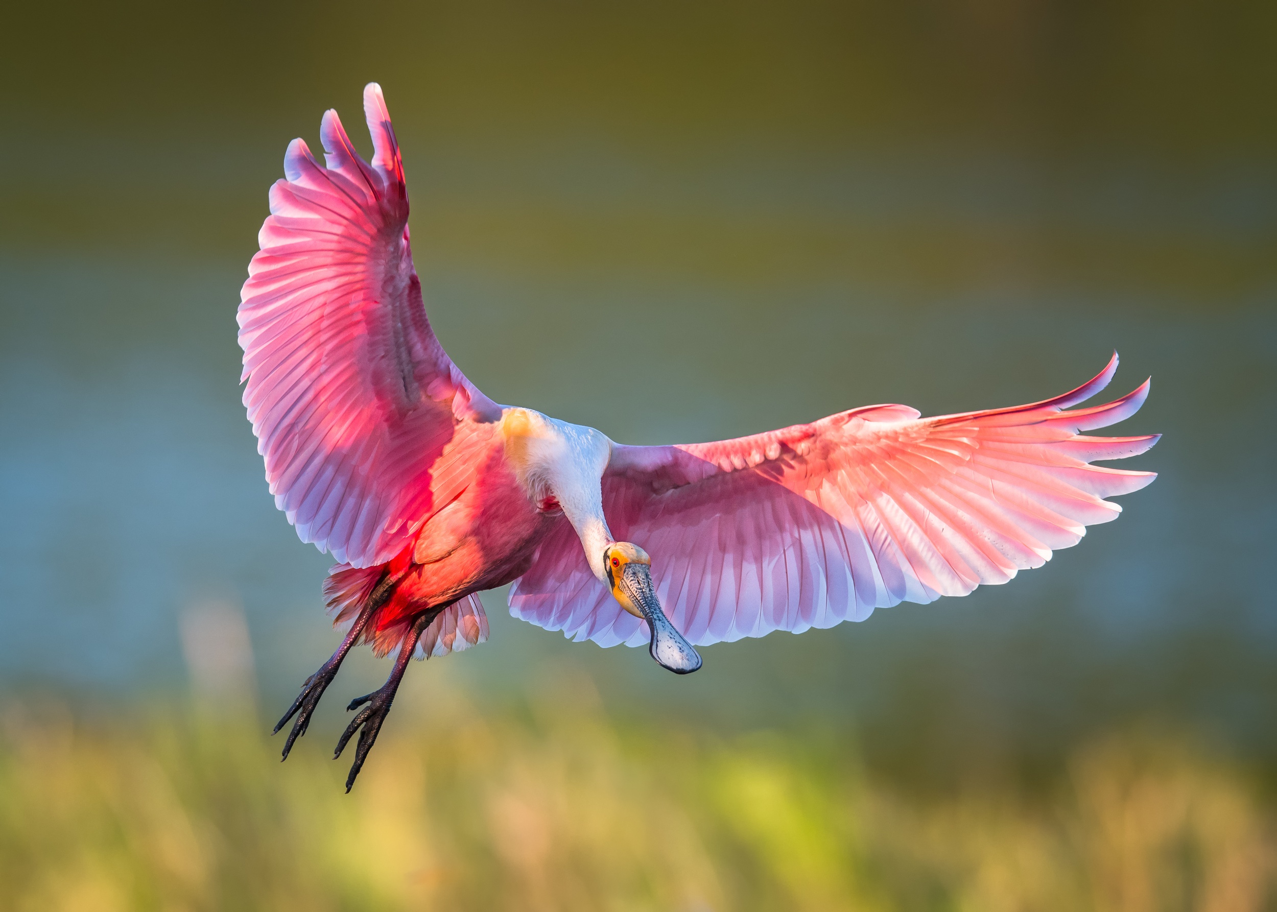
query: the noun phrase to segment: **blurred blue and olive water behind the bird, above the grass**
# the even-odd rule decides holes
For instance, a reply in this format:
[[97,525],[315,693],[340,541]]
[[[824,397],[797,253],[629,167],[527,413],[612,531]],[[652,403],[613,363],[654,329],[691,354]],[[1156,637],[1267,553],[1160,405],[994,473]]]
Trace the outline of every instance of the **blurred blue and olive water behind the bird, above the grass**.
[[[243,605],[267,709],[331,651],[328,561],[266,492],[234,314],[287,141],[318,147],[336,106],[366,144],[378,78],[432,321],[498,401],[618,441],[714,439],[871,402],[1031,401],[1117,349],[1115,395],[1154,382],[1115,432],[1166,434],[1117,522],[1009,586],[714,646],[687,680],[515,622],[493,593],[490,642],[414,676],[507,701],[573,664],[618,713],[854,724],[871,759],[923,773],[1149,715],[1277,757],[1277,156],[1246,109],[1272,72],[1263,8],[1234,10],[1257,37],[1191,8],[1025,24],[954,5],[953,41],[819,5],[668,33],[387,8],[395,52],[327,26],[275,52],[227,10],[208,41],[234,73],[193,37],[209,22],[147,9],[116,36],[134,52],[37,20],[46,43],[5,63],[4,690],[181,691],[179,618],[209,600]],[[383,673],[360,657],[338,683]]]

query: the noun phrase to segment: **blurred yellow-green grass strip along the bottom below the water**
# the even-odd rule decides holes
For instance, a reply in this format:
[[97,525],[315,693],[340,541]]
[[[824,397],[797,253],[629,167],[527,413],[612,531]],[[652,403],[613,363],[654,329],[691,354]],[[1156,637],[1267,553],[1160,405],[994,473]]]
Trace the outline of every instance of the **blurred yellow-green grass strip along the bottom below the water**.
[[94,722],[11,704],[0,908],[1277,902],[1277,809],[1245,769],[1181,736],[1093,741],[1029,789],[918,793],[867,773],[844,736],[658,731],[608,718],[591,694],[566,681],[499,713],[447,690],[424,713],[412,697],[350,796],[327,731],[281,766],[250,711]]

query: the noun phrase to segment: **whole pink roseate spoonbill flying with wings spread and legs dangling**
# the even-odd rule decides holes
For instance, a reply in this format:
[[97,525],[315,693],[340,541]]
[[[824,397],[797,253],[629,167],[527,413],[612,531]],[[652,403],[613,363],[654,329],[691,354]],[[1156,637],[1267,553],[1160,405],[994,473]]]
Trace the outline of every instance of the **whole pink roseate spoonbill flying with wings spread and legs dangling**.
[[[364,89],[365,162],[336,111],[326,163],[301,139],[271,188],[239,307],[244,405],[276,506],[340,561],[324,585],[345,639],[275,731],[283,756],[346,653],[395,668],[337,742],[359,732],[349,791],[409,659],[487,636],[476,593],[512,582],[510,611],[603,646],[647,644],[663,667],[693,645],[862,621],[902,600],[1006,582],[1116,519],[1103,499],[1147,471],[1089,465],[1147,437],[1087,437],[1134,414],[1148,382],[1106,405],[1117,355],[1032,405],[919,418],[852,409],[715,443],[623,446],[484,396],[443,351],[421,303],[407,189],[389,114]],[[361,731],[360,731],[361,729]]]

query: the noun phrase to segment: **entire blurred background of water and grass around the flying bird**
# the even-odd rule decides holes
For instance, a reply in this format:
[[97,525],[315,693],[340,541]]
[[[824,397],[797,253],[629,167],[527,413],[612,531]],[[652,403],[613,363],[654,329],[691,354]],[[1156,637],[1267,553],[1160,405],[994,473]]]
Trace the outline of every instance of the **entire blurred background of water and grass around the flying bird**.
[[[1277,908],[1277,5],[73,1],[0,49],[0,908]],[[1011,585],[691,678],[494,591],[351,796],[366,654],[280,766],[337,636],[235,307],[370,79],[497,401],[715,439],[1117,349],[1160,479]]]

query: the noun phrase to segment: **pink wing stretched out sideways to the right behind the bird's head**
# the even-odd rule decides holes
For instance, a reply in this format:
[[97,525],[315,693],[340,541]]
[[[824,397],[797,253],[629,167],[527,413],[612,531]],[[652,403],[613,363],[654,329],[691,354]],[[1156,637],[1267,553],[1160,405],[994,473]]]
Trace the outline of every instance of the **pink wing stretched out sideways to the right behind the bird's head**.
[[[617,446],[603,479],[612,534],[651,556],[665,612],[693,644],[863,621],[902,600],[965,595],[1039,567],[1085,526],[1117,517],[1105,497],[1156,475],[1089,465],[1158,437],[1085,437],[1134,414],[1138,390],[1089,409],[1098,377],[1032,405],[918,419],[870,406],[716,443]],[[511,613],[600,645],[647,642],[590,574],[571,526],[555,529],[511,590]]]

